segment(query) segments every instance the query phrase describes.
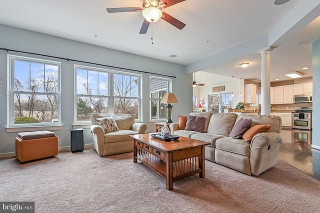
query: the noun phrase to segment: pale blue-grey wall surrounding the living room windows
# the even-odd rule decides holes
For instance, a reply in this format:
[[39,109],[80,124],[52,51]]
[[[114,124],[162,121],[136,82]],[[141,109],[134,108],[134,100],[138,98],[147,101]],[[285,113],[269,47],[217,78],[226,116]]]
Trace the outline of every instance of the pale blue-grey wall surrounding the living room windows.
[[[86,44],[78,41],[68,40],[56,36],[28,31],[0,24],[0,47],[26,52],[40,53],[63,58],[106,64],[111,66],[173,75],[172,92],[179,103],[172,108],[172,120],[177,121],[179,114],[188,114],[192,110],[192,75],[184,74],[183,66],[161,60],[151,59],[126,52],[116,51],[104,47]],[[62,129],[54,130],[59,137],[59,147],[70,145],[70,129],[73,126],[73,64],[66,61],[45,56],[36,56],[27,53],[17,53],[0,50],[0,77],[7,77],[7,54],[23,55],[61,61],[61,113]],[[76,63],[81,64],[81,63]],[[83,65],[93,66],[83,63]],[[102,68],[108,68],[101,66]],[[121,69],[120,69],[121,70]],[[126,70],[123,70],[126,71]],[[142,77],[142,122],[148,124],[147,132],[154,132],[155,127],[149,124],[149,99],[148,99],[148,77],[143,73]],[[189,82],[189,83],[186,83]],[[2,84],[0,96],[0,153],[14,152],[14,138],[17,132],[6,132],[7,127],[7,83]],[[145,92],[146,91],[146,92]],[[76,127],[76,126],[75,126]],[[89,128],[84,129],[85,144],[92,143]]]

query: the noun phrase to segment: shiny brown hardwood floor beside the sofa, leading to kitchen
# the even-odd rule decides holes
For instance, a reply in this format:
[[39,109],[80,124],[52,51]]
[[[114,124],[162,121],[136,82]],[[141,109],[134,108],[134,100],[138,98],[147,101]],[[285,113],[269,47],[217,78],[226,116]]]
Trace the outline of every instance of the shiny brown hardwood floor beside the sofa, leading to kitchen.
[[320,150],[311,148],[312,130],[281,130],[279,158],[320,180]]

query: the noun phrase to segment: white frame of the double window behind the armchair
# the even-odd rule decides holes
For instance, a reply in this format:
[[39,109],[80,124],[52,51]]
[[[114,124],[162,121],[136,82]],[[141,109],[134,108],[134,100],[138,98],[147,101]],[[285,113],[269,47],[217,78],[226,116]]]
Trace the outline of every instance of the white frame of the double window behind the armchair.
[[[90,71],[96,71],[96,72],[105,72],[108,73],[108,91],[107,95],[89,95],[89,94],[77,94],[77,68],[84,69],[84,70],[90,70]],[[91,124],[91,120],[84,120],[84,121],[78,121],[77,120],[77,104],[76,99],[79,96],[85,96],[85,97],[103,97],[107,98],[108,102],[108,114],[114,114],[114,99],[115,98],[134,98],[137,99],[138,102],[138,118],[135,119],[135,122],[141,121],[141,113],[142,113],[142,104],[141,104],[141,88],[142,88],[142,75],[132,72],[124,72],[124,71],[117,71],[112,69],[105,69],[105,68],[99,68],[99,67],[92,67],[92,66],[86,66],[86,65],[79,65],[74,64],[74,110],[73,110],[73,124]],[[120,75],[130,75],[138,78],[138,84],[137,84],[137,97],[122,97],[122,96],[115,96],[114,95],[114,88],[113,88],[113,80],[114,80],[114,74],[120,74]]]

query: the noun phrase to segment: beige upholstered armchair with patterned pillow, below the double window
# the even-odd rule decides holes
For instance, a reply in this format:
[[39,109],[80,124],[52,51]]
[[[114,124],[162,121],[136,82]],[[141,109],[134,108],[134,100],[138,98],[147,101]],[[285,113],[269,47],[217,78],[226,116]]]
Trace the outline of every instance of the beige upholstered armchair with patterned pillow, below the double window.
[[[104,131],[96,118],[113,117],[119,130]],[[93,147],[100,156],[130,152],[133,150],[130,134],[143,134],[147,128],[145,123],[135,123],[130,114],[91,114],[91,133],[93,136]]]

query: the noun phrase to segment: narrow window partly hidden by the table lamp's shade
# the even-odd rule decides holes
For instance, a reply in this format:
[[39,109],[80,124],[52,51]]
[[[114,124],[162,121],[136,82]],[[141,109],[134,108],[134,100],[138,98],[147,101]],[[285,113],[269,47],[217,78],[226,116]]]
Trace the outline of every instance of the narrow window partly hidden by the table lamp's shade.
[[163,77],[149,77],[150,120],[165,120],[165,103],[160,103],[162,97],[168,92],[171,79]]

